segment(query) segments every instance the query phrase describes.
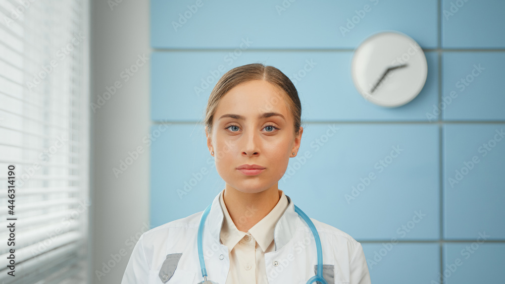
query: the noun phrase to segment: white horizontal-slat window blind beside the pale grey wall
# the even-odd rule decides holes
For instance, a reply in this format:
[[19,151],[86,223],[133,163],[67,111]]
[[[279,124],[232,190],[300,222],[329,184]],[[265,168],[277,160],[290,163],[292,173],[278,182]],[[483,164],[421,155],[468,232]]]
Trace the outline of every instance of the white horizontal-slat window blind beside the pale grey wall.
[[2,283],[85,282],[88,13],[87,0],[0,0]]

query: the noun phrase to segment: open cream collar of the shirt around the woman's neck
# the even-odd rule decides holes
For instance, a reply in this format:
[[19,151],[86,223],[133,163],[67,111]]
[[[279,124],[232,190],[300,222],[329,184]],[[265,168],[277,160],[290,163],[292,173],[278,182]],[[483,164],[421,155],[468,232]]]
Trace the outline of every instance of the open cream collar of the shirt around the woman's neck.
[[[231,250],[247,234],[237,229],[224,203],[224,191],[219,194],[221,208],[223,209],[223,225],[220,233],[220,240]],[[289,205],[289,200],[284,192],[279,190],[279,201],[275,207],[258,223],[249,229],[248,233],[256,240],[261,249],[265,252],[274,240],[274,230],[277,221],[283,215]],[[250,209],[254,210],[254,209]],[[244,212],[247,214],[248,211]],[[251,212],[252,213],[252,212]]]

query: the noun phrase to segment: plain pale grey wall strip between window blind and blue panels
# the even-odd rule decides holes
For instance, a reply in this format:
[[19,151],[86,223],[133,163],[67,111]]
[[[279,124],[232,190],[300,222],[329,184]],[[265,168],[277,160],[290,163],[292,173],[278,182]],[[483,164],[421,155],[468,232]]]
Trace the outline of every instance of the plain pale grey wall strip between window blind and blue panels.
[[[109,4],[115,1],[121,3],[111,10]],[[90,16],[91,102],[103,103],[98,95],[116,81],[121,87],[91,111],[89,282],[120,283],[131,239],[148,229],[149,149],[142,137],[149,133],[150,62],[128,81],[121,73],[135,65],[139,55],[150,57],[149,1],[91,0]],[[144,152],[116,178],[113,168],[139,146]],[[111,257],[121,253],[126,255],[119,261]],[[103,263],[114,267],[108,271]],[[96,270],[107,273],[98,279]]]

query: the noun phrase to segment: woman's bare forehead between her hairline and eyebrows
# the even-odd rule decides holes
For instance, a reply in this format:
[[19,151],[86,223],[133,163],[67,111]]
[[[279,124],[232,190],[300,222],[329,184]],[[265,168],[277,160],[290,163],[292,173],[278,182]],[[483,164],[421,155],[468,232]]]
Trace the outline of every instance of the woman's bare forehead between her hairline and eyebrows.
[[[216,113],[241,112],[257,114],[269,111],[289,117],[287,94],[276,85],[264,80],[242,83],[229,90],[220,100]],[[234,113],[234,112],[233,112]]]

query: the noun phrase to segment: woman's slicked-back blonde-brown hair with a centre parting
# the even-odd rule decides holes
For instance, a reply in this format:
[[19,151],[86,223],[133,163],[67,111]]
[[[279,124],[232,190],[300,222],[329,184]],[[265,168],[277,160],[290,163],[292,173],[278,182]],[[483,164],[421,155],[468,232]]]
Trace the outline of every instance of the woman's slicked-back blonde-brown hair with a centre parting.
[[212,132],[214,113],[216,113],[221,98],[235,86],[252,80],[267,81],[279,87],[287,94],[289,98],[287,100],[288,109],[294,118],[294,136],[298,136],[301,126],[301,103],[298,91],[296,91],[293,82],[279,69],[273,66],[265,66],[261,63],[252,63],[233,68],[219,79],[209,96],[205,111],[204,124],[207,126],[208,132]]

